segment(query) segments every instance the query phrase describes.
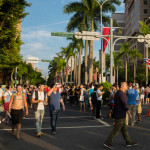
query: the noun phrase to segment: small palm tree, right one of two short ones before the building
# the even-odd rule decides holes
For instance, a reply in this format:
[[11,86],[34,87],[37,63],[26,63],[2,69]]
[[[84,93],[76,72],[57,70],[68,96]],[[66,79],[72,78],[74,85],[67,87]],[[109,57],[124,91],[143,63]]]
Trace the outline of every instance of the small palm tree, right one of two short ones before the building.
[[135,49],[131,50],[130,58],[131,58],[131,60],[134,64],[134,83],[135,83],[135,79],[136,79],[136,60],[137,60],[137,58],[142,59],[143,55],[141,53],[139,53],[138,49],[135,48]]

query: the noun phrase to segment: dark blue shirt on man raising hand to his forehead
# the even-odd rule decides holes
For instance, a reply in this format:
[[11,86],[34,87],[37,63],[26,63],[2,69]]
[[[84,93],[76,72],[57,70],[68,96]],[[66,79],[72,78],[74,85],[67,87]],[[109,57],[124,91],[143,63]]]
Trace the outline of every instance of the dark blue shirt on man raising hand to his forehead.
[[51,93],[49,102],[49,107],[51,111],[60,110],[60,99],[62,98],[58,92],[56,92],[56,94],[54,92]]

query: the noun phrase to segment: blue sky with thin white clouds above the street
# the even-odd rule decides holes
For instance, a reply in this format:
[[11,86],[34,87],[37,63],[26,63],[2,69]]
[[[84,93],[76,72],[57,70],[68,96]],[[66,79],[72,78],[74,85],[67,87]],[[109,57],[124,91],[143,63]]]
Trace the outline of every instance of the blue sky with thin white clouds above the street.
[[[66,4],[74,0],[27,0],[32,3],[26,8],[29,13],[21,24],[21,39],[24,44],[21,47],[21,55],[25,60],[28,57],[37,57],[39,60],[52,60],[61,47],[66,47],[69,41],[65,37],[53,37],[51,32],[66,32],[66,26],[72,15],[63,13]],[[80,1],[80,0],[75,0]],[[124,13],[123,0],[121,6],[116,7],[116,13]],[[98,60],[100,40],[94,41],[94,57]],[[49,63],[35,64],[42,70],[43,76],[48,75]]]

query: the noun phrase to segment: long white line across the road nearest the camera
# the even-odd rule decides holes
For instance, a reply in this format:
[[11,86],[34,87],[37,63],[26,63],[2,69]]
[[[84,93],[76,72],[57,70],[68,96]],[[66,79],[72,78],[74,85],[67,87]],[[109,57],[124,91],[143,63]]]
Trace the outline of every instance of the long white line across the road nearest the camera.
[[[101,125],[101,126],[75,126],[75,127],[57,127],[57,129],[82,129],[82,128],[102,128],[102,127],[106,127],[105,125]],[[42,130],[49,130],[51,129],[49,128],[42,128]],[[0,129],[0,131],[11,131],[12,129],[8,128],[8,129]],[[36,128],[22,128],[22,131],[26,131],[26,130],[36,130]]]

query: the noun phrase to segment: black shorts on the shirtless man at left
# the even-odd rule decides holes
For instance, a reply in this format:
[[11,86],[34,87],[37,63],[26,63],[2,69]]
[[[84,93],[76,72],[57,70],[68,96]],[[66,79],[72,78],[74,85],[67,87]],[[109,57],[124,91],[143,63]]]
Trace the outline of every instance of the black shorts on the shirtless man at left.
[[23,109],[12,109],[11,110],[11,118],[12,118],[12,125],[16,125],[18,123],[21,123],[23,118]]

